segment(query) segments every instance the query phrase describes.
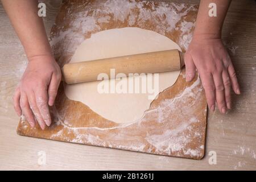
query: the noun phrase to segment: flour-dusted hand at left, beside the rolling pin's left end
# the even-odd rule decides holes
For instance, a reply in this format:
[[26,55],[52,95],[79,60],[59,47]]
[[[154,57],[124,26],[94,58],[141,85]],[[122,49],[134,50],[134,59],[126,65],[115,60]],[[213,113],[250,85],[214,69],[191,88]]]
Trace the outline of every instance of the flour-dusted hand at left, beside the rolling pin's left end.
[[55,101],[61,80],[59,65],[51,55],[34,56],[13,96],[16,113],[24,115],[31,127],[37,121],[42,129],[51,125],[49,106]]

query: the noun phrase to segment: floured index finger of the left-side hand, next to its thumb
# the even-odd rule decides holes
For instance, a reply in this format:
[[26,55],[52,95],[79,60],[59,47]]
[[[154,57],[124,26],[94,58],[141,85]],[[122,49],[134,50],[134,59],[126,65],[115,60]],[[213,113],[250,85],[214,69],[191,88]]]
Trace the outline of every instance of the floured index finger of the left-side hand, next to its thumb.
[[47,126],[51,125],[51,115],[49,114],[49,107],[47,104],[47,90],[38,90],[35,92],[35,100],[36,105],[38,106],[38,109],[43,117],[44,122]]

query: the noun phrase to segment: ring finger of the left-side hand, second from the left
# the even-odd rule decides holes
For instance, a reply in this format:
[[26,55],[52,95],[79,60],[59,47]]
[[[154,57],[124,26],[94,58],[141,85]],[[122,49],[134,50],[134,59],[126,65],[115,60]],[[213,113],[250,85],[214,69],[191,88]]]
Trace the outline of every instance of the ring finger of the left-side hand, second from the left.
[[30,105],[28,104],[27,95],[24,92],[20,93],[19,104],[22,109],[22,114],[26,117],[28,123],[30,123],[30,126],[35,127],[34,115],[30,109]]

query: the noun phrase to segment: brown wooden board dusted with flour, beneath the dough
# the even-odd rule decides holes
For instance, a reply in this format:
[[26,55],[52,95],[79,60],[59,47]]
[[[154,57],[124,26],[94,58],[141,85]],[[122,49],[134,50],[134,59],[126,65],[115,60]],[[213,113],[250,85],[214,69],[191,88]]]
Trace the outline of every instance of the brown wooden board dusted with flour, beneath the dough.
[[[191,41],[197,5],[153,1],[64,1],[52,27],[50,43],[60,67],[79,44],[96,32],[139,27],[174,40],[185,51]],[[201,159],[204,156],[207,102],[199,77],[176,83],[160,93],[136,123],[108,121],[81,102],[69,100],[61,82],[52,125],[31,128],[20,119],[17,133],[29,137],[89,144],[151,154]]]

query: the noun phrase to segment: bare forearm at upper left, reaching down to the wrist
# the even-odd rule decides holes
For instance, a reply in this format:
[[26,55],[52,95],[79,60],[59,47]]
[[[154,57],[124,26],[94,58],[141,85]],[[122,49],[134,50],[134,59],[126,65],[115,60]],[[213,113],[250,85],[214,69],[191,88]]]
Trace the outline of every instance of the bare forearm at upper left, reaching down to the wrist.
[[39,55],[51,55],[43,20],[38,16],[38,1],[2,0],[2,4],[19,36],[28,60]]

